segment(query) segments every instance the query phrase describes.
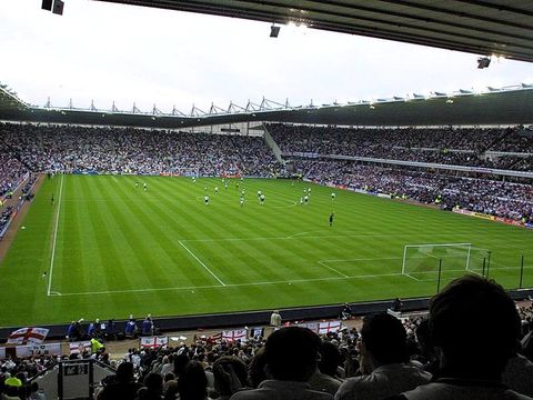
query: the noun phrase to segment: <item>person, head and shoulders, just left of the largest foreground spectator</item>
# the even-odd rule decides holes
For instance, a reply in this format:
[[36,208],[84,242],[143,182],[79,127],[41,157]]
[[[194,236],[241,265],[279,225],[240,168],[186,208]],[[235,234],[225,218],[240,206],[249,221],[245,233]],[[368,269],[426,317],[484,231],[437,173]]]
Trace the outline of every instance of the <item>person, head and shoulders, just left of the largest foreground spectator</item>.
[[384,399],[428,383],[430,373],[406,363],[406,340],[398,318],[388,313],[366,317],[361,329],[361,363],[370,374],[348,379],[335,399]]

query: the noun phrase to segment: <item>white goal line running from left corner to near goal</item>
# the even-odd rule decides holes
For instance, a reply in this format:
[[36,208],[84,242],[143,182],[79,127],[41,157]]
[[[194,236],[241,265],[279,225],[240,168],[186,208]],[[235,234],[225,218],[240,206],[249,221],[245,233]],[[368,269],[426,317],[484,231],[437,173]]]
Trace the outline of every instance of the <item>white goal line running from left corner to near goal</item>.
[[229,289],[229,288],[243,288],[254,286],[266,284],[292,284],[292,283],[306,283],[306,282],[321,282],[321,281],[338,281],[350,279],[371,279],[381,277],[401,277],[404,276],[401,272],[398,273],[381,273],[381,274],[368,274],[355,277],[329,277],[329,278],[312,278],[312,279],[294,279],[286,281],[265,281],[265,282],[251,282],[251,283],[228,283],[223,287],[220,284],[207,284],[207,286],[189,286],[189,287],[171,287],[171,288],[151,288],[151,289],[125,289],[125,290],[102,290],[102,291],[88,291],[88,292],[72,292],[72,293],[51,293],[51,296],[94,296],[94,294],[115,294],[115,293],[143,293],[143,292],[159,292],[159,291],[174,291],[174,290],[199,290],[199,289]]

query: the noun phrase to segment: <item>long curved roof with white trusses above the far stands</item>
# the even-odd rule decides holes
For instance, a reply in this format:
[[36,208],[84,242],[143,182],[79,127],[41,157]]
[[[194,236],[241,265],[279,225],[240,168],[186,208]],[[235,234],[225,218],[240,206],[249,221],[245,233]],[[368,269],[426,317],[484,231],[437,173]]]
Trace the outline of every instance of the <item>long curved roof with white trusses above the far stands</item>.
[[120,110],[37,108],[0,89],[0,120],[184,129],[238,122],[272,121],[359,127],[487,126],[533,123],[533,84],[474,92],[412,94],[406,98],[362,100],[345,104],[291,107],[263,99],[247,107],[193,108],[190,114]]

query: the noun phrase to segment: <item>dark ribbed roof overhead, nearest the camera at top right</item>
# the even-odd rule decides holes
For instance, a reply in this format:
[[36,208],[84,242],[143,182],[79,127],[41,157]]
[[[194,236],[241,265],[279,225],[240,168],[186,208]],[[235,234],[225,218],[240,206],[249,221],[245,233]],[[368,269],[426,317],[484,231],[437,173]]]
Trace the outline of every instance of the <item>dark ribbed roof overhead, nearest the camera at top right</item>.
[[[201,12],[533,61],[524,0],[99,0]],[[394,62],[394,60],[391,60]]]

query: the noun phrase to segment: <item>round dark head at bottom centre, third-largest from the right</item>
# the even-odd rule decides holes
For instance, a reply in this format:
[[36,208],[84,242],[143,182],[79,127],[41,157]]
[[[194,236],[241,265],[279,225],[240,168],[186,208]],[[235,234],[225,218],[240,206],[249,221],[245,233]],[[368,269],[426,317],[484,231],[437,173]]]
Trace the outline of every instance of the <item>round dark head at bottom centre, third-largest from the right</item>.
[[306,328],[288,327],[273,332],[264,346],[273,379],[306,382],[316,370],[321,340]]

